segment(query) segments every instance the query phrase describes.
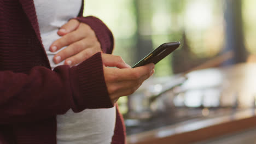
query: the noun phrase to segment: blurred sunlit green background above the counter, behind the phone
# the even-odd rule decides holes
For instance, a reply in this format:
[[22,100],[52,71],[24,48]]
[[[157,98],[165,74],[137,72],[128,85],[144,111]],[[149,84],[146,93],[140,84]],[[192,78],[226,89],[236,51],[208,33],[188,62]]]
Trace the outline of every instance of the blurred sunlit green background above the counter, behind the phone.
[[253,0],[94,0],[85,1],[84,15],[108,25],[114,55],[130,65],[162,43],[181,41],[182,47],[156,67],[155,76],[167,76],[228,50],[237,52],[230,64],[256,53],[254,5]]

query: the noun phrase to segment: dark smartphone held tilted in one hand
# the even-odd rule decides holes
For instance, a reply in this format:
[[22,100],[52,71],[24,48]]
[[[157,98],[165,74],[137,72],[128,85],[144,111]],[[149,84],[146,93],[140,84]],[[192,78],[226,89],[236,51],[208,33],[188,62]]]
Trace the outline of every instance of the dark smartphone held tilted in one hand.
[[176,50],[181,43],[179,41],[172,43],[164,43],[156,48],[154,51],[150,52],[146,57],[141,59],[138,63],[133,65],[132,68],[141,67],[142,65],[146,65],[148,63],[158,63],[161,59],[168,56],[171,52]]

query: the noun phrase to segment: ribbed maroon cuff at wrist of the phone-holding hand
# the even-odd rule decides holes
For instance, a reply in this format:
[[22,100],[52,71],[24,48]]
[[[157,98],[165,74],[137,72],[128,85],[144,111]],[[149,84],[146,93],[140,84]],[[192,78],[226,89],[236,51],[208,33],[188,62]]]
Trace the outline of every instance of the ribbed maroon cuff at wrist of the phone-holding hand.
[[73,85],[71,83],[74,92],[74,104],[71,107],[74,112],[113,107],[104,81],[100,52],[77,67],[72,67],[71,76],[75,79]]

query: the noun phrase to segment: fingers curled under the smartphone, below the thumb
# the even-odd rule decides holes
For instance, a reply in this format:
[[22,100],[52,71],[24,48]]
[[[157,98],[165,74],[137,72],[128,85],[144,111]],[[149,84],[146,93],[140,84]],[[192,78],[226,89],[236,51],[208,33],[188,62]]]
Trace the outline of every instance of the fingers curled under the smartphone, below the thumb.
[[112,103],[119,97],[134,93],[154,73],[153,63],[134,69],[103,68]]

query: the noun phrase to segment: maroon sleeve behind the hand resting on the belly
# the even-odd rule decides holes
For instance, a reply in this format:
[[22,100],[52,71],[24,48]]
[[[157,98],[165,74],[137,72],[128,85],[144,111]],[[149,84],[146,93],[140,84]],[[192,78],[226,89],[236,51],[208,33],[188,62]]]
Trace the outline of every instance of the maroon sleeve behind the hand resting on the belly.
[[80,22],[86,23],[94,30],[98,41],[101,43],[101,49],[104,53],[111,54],[114,48],[114,38],[109,28],[98,18],[94,16],[77,17]]

